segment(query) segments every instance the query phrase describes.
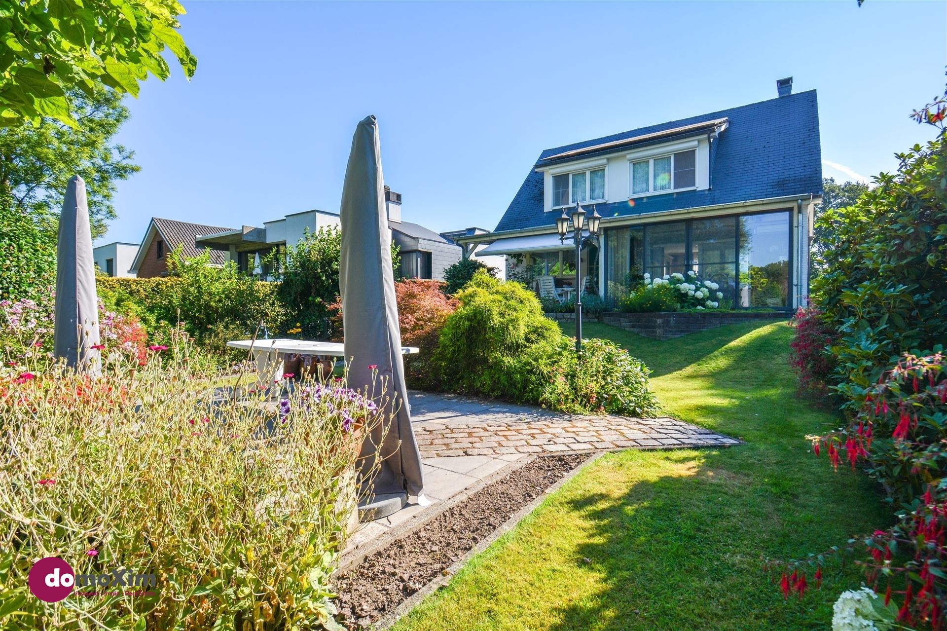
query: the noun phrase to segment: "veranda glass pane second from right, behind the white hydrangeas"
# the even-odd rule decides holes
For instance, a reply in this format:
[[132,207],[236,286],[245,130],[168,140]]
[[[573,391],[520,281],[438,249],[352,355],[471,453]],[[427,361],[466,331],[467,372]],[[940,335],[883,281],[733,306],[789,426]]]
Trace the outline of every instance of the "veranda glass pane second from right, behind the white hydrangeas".
[[690,223],[690,263],[703,280],[720,285],[722,306],[732,306],[737,284],[737,218],[695,219]]

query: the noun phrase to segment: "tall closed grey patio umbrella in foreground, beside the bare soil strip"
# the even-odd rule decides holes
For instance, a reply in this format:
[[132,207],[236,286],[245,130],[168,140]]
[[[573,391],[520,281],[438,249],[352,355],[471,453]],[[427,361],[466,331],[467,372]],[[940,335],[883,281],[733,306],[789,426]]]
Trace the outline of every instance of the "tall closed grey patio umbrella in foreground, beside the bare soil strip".
[[[398,510],[406,495],[421,496],[424,479],[420,453],[411,428],[411,413],[404,385],[402,335],[398,326],[395,279],[391,268],[391,232],[384,204],[381,150],[378,123],[366,117],[355,129],[348,155],[345,185],[342,189],[342,259],[339,288],[342,293],[342,318],[345,352],[348,358],[350,388],[374,388],[386,383],[386,395],[394,398],[397,414],[386,415],[390,425],[376,427],[372,441],[362,447],[363,462],[371,464],[375,445],[382,441],[381,469],[373,480],[371,492],[376,500],[392,501]],[[377,366],[370,369],[369,366]],[[372,371],[377,370],[373,379]],[[390,408],[389,408],[390,409]],[[421,501],[423,499],[421,498]],[[384,516],[381,509],[374,517]]]

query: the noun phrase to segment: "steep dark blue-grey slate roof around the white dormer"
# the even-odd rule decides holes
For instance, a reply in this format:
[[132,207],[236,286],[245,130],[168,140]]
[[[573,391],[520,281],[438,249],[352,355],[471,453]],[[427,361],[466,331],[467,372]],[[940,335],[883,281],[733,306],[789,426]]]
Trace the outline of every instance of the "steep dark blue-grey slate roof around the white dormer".
[[[544,211],[543,173],[535,169],[541,163],[546,166],[567,162],[568,159],[546,161],[550,156],[723,117],[727,118],[729,127],[715,141],[717,146],[712,150],[710,189],[635,198],[634,206],[627,201],[599,204],[598,210],[602,217],[632,216],[822,192],[818,102],[815,90],[810,90],[547,149],[529,170],[523,186],[513,197],[494,231],[545,225],[552,228],[555,224],[559,211]],[[640,146],[648,144],[652,143],[646,141]],[[622,147],[622,151],[627,149]],[[594,154],[582,155],[581,158]]]

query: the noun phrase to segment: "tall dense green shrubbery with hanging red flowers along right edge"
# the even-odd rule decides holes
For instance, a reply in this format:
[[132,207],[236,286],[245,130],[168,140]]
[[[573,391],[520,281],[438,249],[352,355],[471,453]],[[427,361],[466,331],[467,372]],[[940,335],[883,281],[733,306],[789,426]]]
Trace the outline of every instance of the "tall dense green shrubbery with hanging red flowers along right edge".
[[797,337],[809,345],[795,355],[821,376],[825,366],[812,368],[825,343],[831,387],[844,401],[846,424],[809,437],[813,452],[877,479],[895,523],[792,563],[779,580],[785,595],[802,595],[836,553],[854,556],[884,608],[895,612],[894,628],[940,629],[947,606],[947,96],[914,117],[935,125],[937,139],[899,155],[898,173],[880,175],[855,206],[819,220],[837,242],[813,281],[822,313],[812,314],[811,344]]

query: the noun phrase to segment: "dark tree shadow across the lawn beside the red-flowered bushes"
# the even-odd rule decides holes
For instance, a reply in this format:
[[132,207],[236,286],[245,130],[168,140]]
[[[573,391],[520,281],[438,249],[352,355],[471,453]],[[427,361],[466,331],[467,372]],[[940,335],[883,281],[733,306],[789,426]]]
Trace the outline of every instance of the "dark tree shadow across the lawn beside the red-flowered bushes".
[[[727,337],[754,328],[728,327]],[[820,429],[824,421],[817,418],[825,417],[795,397],[788,369],[774,369],[785,356],[773,349],[788,338],[785,329],[774,328],[744,344],[721,348],[732,340],[718,339],[716,348],[700,351],[702,357],[721,353],[707,370],[695,367],[713,397],[691,406],[689,415],[747,443],[647,458],[617,453],[593,465],[592,492],[566,500],[564,507],[593,526],[575,546],[572,563],[575,571],[597,572],[603,588],[560,607],[561,622],[551,629],[829,624],[834,599],[863,580],[859,569],[833,568],[821,590],[787,603],[763,573],[761,557],[788,560],[820,552],[884,525],[887,517],[866,476],[833,474],[825,459],[808,453],[803,436]],[[688,364],[698,361],[691,357]],[[616,467],[640,467],[641,479],[627,491],[597,492],[629,475]],[[572,571],[563,568],[566,575]]]

